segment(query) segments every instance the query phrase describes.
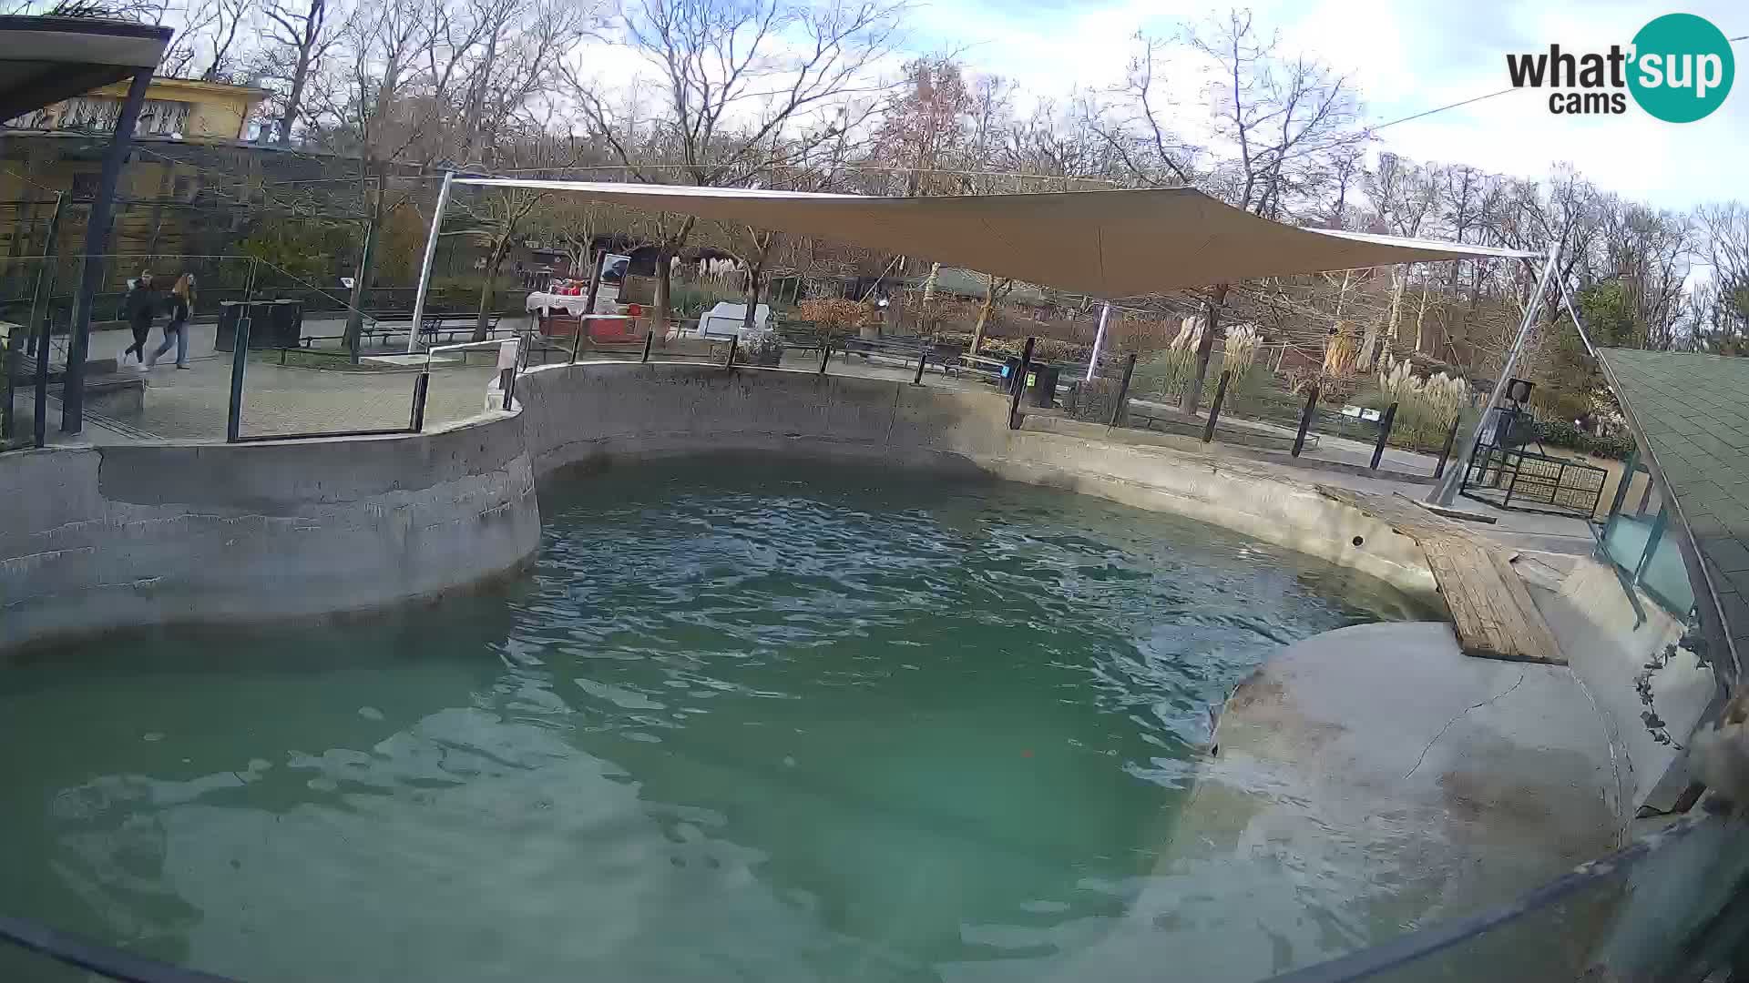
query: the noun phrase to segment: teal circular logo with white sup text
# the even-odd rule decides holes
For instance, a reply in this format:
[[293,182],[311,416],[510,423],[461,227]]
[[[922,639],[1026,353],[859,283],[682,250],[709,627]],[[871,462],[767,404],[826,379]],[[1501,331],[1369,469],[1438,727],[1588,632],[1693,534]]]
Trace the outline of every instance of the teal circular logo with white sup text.
[[1665,14],[1634,35],[1628,91],[1665,122],[1695,122],[1719,108],[1735,75],[1732,42],[1705,17]]

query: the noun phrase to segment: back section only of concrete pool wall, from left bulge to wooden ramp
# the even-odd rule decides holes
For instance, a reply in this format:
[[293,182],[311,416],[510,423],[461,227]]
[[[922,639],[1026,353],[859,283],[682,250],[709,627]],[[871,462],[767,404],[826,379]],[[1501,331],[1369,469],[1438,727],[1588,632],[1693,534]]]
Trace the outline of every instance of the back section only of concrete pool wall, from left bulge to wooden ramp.
[[703,451],[978,469],[1168,511],[1320,556],[1434,602],[1410,537],[1251,462],[1007,429],[1007,399],[861,376],[673,362],[546,366],[516,381],[537,474]]

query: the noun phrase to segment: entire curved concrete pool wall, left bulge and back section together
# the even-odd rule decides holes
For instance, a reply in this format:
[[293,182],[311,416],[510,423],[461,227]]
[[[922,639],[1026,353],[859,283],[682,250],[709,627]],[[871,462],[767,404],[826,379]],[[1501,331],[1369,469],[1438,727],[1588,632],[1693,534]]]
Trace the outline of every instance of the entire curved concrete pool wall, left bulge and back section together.
[[518,408],[390,437],[49,448],[0,462],[0,651],[362,610],[537,547],[535,476],[614,457],[850,455],[1170,511],[1436,598],[1420,547],[1249,462],[1016,432],[999,394],[700,364],[549,366]]

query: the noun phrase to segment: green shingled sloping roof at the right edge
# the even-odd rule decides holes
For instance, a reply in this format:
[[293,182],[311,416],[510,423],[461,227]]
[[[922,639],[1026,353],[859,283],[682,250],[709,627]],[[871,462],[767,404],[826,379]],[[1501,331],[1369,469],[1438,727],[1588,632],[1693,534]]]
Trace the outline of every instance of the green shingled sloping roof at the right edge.
[[1702,617],[1718,623],[1733,668],[1740,666],[1740,652],[1749,651],[1749,359],[1628,348],[1599,353],[1688,530],[1684,560]]

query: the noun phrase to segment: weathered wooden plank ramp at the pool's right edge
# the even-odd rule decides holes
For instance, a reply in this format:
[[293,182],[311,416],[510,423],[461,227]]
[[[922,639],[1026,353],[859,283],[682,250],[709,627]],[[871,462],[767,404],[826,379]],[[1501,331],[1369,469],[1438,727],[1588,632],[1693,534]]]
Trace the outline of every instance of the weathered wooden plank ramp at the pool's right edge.
[[1452,609],[1452,631],[1466,656],[1567,665],[1555,633],[1506,556],[1464,523],[1436,516],[1403,495],[1319,490],[1390,523],[1390,528],[1420,544],[1439,596]]

